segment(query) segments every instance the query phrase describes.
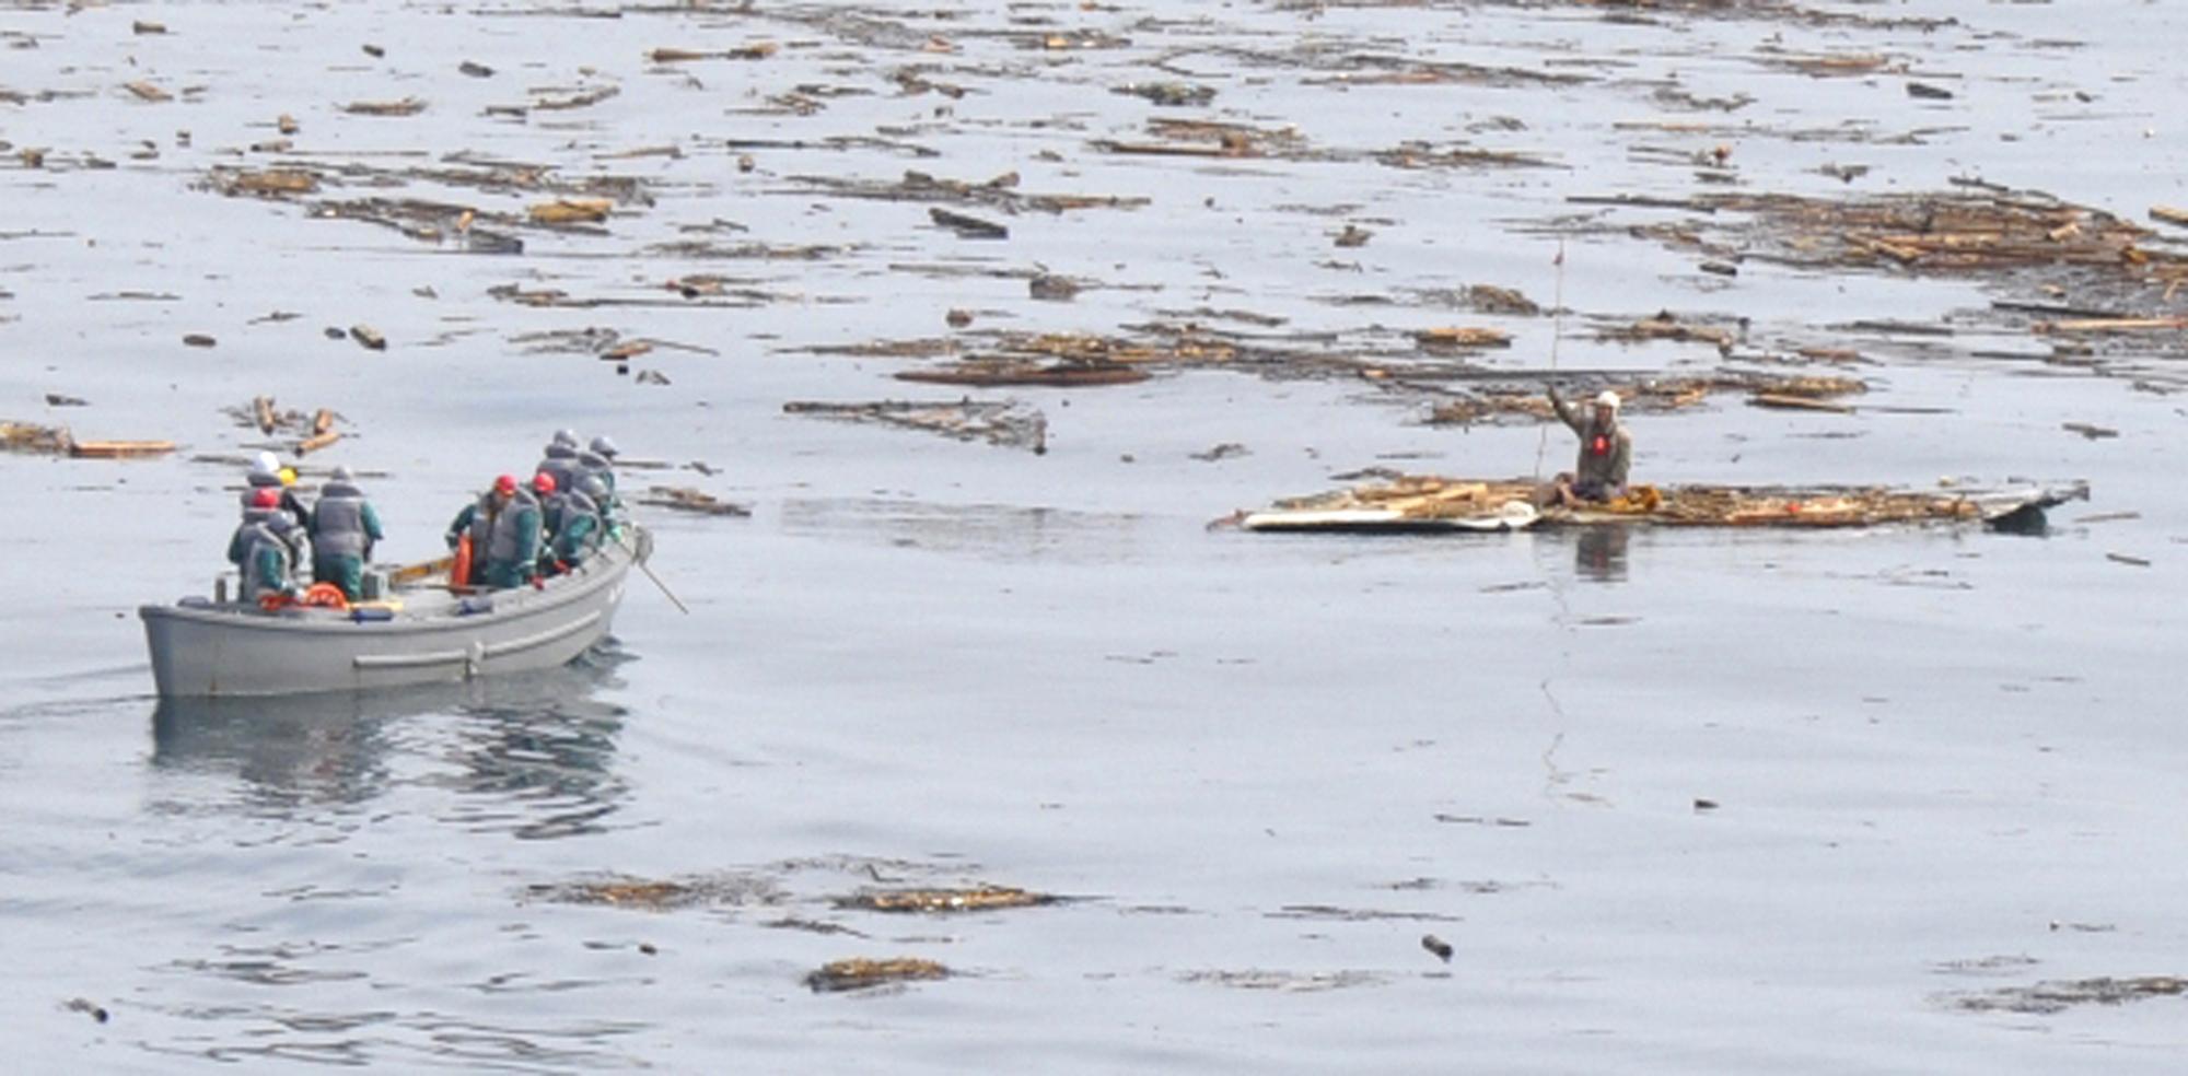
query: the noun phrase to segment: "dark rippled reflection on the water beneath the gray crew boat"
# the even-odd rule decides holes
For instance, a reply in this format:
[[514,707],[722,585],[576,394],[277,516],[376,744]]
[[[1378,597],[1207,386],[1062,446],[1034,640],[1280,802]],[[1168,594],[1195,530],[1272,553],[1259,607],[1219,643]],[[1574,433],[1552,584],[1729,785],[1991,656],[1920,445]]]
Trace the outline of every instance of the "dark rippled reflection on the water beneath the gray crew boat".
[[610,772],[624,709],[593,695],[624,660],[606,643],[560,669],[464,685],[160,700],[151,763],[232,772],[249,809],[287,814],[370,800],[396,783],[392,759],[422,755],[455,763],[422,783],[492,800],[466,800],[464,822],[525,838],[597,831],[626,792]]

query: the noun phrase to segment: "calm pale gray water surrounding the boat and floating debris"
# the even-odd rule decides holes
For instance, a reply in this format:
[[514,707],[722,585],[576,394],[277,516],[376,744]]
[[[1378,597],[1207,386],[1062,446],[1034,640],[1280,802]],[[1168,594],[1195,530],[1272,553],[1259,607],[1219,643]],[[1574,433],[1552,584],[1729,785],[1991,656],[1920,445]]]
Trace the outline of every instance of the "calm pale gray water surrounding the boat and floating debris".
[[[1864,22],[1934,15],[1956,22]],[[1831,326],[1934,319],[1989,293],[1764,262],[1726,280],[1604,232],[1569,243],[1562,291],[1582,317],[1556,348],[1547,317],[1418,293],[1490,282],[1547,304],[1545,221],[1582,212],[1567,195],[1713,188],[1634,147],[1731,142],[1759,192],[1978,175],[2131,219],[2188,203],[2168,55],[2184,33],[2179,11],[2131,0],[0,4],[0,418],[184,446],[129,464],[0,455],[18,521],[0,536],[11,1063],[2179,1072],[2181,997],[2009,1004],[2039,984],[2188,975],[2173,479],[2188,416],[2170,361],[2127,354],[2133,370],[2105,376],[1974,354],[2039,350],[2026,337],[1871,339]],[[648,59],[753,42],[779,50]],[[1886,63],[1816,79],[1783,55]],[[1350,85],[1389,70],[1357,57],[1582,81]],[[908,92],[919,79],[963,96]],[[1755,101],[1674,109],[1656,96],[1672,79]],[[1956,96],[1910,98],[1908,79]],[[1149,81],[1217,96],[1112,94]],[[617,94],[497,109],[600,87]],[[424,112],[344,112],[405,96]],[[282,114],[300,127],[289,151],[254,151]],[[1094,149],[1173,116],[1291,125],[1313,153]],[[1820,129],[1842,133],[1788,136]],[[1405,140],[1558,166],[1368,157]],[[659,147],[678,155],[632,155]],[[44,149],[42,166],[20,166],[22,149]],[[309,162],[330,177],[313,199],[521,217],[551,197],[403,175],[451,153],[635,177],[648,201],[595,232],[519,225],[525,254],[488,256],[203,188],[214,166]],[[1842,184],[1825,164],[1871,173]],[[1011,225],[978,243],[932,227],[926,203],[801,179],[906,168],[1149,203],[965,208]],[[1332,247],[1343,223],[1374,238]],[[829,249],[654,249],[694,238]],[[1098,286],[1037,302],[1037,267]],[[694,273],[757,297],[702,306],[663,286]],[[606,304],[534,308],[490,293],[505,284]],[[1387,302],[1332,302],[1346,295]],[[781,413],[954,398],[893,381],[910,359],[810,352],[943,337],[947,308],[1026,332],[1252,311],[1282,317],[1265,332],[1287,346],[1328,335],[1341,352],[1499,324],[1518,346],[1488,363],[1641,372],[1718,359],[1599,343],[1588,315],[1746,315],[1871,354],[1855,372],[1877,407],[1720,398],[1637,416],[1645,477],[2087,479],[2094,496],[2044,536],[1267,538],[1208,523],[1370,466],[1529,472],[1540,433],[1431,429],[1422,400],[1361,381],[1225,370],[980,391],[1044,409],[1046,455]],[[387,352],[324,337],[352,324]],[[641,354],[632,374],[667,378],[645,385],[525,339],[584,328],[711,354]],[[188,332],[217,346],[186,348]],[[435,553],[466,490],[529,466],[565,424],[678,468],[626,483],[696,486],[753,516],[648,516],[689,615],[632,588],[617,643],[556,676],[160,706],[133,610],[217,575],[238,470],[197,457],[256,446],[221,413],[254,394],[341,411],[350,437],[311,464],[379,472],[394,560]],[[1249,455],[1195,459],[1225,442]],[[1551,435],[1543,466],[1569,453]],[[554,899],[606,877],[707,899]],[[834,903],[971,884],[1072,901]],[[1422,934],[1451,943],[1448,964]],[[803,986],[827,960],[886,956],[954,975]]]

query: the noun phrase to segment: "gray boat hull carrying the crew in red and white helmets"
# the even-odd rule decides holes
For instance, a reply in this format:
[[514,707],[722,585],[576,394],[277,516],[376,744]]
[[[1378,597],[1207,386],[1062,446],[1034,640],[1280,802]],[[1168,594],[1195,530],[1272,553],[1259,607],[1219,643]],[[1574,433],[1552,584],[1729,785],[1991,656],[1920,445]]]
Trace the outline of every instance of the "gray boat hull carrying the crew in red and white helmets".
[[[438,575],[396,582],[350,610],[260,610],[186,597],[142,606],[160,698],[302,695],[551,669],[608,634],[632,566],[654,540],[624,525],[593,560],[543,586],[457,593]],[[400,573],[398,573],[400,577]]]

